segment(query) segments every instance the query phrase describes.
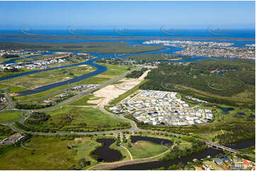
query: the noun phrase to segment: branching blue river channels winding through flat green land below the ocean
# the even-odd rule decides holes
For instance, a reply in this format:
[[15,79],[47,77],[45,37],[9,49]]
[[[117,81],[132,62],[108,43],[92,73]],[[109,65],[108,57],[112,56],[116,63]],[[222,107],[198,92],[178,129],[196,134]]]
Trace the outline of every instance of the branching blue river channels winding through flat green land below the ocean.
[[[135,46],[135,45],[133,45],[133,46]],[[87,64],[89,66],[94,66],[96,68],[96,71],[84,74],[82,76],[78,76],[76,78],[71,78],[67,81],[52,83],[52,84],[48,84],[48,85],[45,85],[45,86],[40,86],[39,88],[35,88],[33,90],[26,90],[26,91],[23,91],[21,93],[18,93],[18,96],[31,95],[31,94],[34,94],[34,93],[43,92],[45,90],[50,90],[51,88],[56,88],[58,86],[64,86],[64,85],[67,85],[69,83],[75,83],[77,81],[82,81],[86,78],[90,78],[91,76],[96,76],[96,75],[99,75],[101,73],[104,73],[108,69],[105,66],[101,66],[99,64],[94,63],[95,61],[97,61],[99,59],[102,59],[102,58],[113,57],[113,58],[116,58],[116,59],[125,59],[123,57],[127,57],[127,56],[130,56],[130,55],[161,54],[161,53],[177,55],[174,52],[177,52],[177,51],[182,50],[182,49],[183,48],[180,48],[180,47],[165,47],[165,49],[160,49],[160,50],[157,50],[157,51],[141,52],[141,53],[136,53],[136,54],[105,54],[105,53],[87,52],[88,54],[91,54],[91,55],[95,56],[96,58],[95,59],[90,59],[89,61],[84,61],[84,62],[79,63],[79,64],[71,64],[71,65],[67,65],[67,66],[58,66],[58,67],[54,67],[54,68],[50,68],[50,69],[42,69],[42,70],[36,70],[36,71],[29,71],[29,72],[26,72],[26,73],[18,73],[18,74],[12,75],[12,76],[2,77],[2,78],[0,78],[0,81],[8,80],[8,79],[11,79],[11,78],[18,78],[18,77],[21,77],[21,76],[28,76],[30,74],[39,73],[39,72],[43,72],[43,71],[50,71],[50,70],[55,70],[55,69],[68,68],[68,67],[72,67],[72,66],[79,66],[79,65],[82,65],[82,64]],[[8,61],[4,61],[2,64],[16,63],[16,60],[18,60],[18,59],[28,59],[28,58],[33,58],[33,57],[40,57],[40,56],[43,56],[45,54],[53,54],[53,53],[54,52],[47,52],[47,53],[43,53],[43,54],[40,54],[40,55],[32,55],[32,56],[24,57],[24,58],[10,59]],[[74,53],[78,53],[78,52],[74,52]],[[201,61],[201,60],[204,60],[204,59],[209,59],[209,58],[208,57],[191,57],[191,58],[179,59],[179,60],[175,60],[175,61],[171,61],[171,62],[190,62],[190,61]],[[222,58],[222,57],[212,57],[211,59],[224,59],[224,58]],[[125,59],[125,60],[129,60],[129,59]],[[169,61],[169,60],[165,60],[165,61]],[[165,62],[165,61],[162,61],[162,62]]]

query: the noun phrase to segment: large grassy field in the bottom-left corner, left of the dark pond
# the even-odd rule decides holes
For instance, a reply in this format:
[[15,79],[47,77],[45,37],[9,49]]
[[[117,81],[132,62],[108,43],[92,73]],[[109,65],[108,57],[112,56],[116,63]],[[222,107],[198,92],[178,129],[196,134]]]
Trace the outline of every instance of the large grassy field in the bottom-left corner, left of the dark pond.
[[72,138],[56,136],[33,136],[30,141],[23,143],[27,148],[40,150],[27,150],[21,146],[1,146],[1,170],[68,170],[72,165],[78,167],[78,160],[85,158],[91,163],[96,161],[89,157],[97,143],[90,138],[83,138],[78,150],[68,149],[67,143]]

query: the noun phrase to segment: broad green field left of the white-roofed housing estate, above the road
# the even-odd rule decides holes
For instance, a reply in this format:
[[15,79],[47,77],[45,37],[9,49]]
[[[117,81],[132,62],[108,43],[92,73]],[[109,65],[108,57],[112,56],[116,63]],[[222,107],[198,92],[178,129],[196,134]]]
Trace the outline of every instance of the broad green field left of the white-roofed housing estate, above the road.
[[28,124],[28,122],[25,122],[26,126],[41,131],[104,131],[130,127],[129,122],[115,119],[93,107],[65,106],[48,111],[46,114],[51,116],[47,122],[42,124]]

